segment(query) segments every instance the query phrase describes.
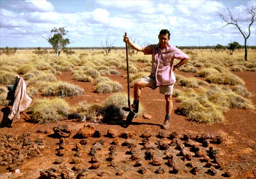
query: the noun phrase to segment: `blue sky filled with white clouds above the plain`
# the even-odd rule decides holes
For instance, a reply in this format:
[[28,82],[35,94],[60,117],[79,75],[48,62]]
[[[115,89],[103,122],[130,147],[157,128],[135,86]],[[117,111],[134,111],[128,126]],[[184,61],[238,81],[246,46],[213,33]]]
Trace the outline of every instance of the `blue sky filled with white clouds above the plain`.
[[[228,18],[228,7],[248,34],[252,6],[255,0],[0,0],[0,47],[51,47],[44,37],[54,27],[69,31],[68,47],[101,47],[107,38],[124,47],[124,32],[137,44],[157,43],[161,29],[170,31],[174,46],[244,44],[236,26],[222,28],[217,12]],[[248,45],[256,45],[256,19]]]

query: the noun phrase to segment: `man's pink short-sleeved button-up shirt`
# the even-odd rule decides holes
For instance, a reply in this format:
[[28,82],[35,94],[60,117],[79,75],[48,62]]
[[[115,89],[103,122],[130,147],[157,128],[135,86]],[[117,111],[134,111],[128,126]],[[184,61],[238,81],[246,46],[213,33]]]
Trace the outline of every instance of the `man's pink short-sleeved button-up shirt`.
[[182,60],[188,56],[169,44],[165,50],[161,50],[159,44],[150,44],[142,47],[142,50],[145,55],[152,55],[151,74],[156,75],[157,86],[174,84],[176,82],[173,72],[174,59]]

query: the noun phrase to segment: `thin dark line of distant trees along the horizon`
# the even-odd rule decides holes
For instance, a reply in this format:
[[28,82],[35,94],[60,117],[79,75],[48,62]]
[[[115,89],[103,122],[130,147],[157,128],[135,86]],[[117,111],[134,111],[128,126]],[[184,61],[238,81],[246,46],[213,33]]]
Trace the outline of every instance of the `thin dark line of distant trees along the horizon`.
[[[216,46],[176,46],[179,49],[216,49]],[[46,49],[46,50],[51,50],[51,47],[39,47],[40,49]],[[223,46],[224,49],[227,49],[228,46]],[[247,46],[248,49],[256,49],[256,46]],[[4,50],[6,47],[1,47],[0,50]],[[38,47],[9,47],[9,49],[15,49],[15,50],[36,50]],[[67,47],[67,49],[70,50],[100,50],[104,49],[103,47]],[[113,47],[113,50],[117,49],[125,49],[125,47]],[[244,49],[244,46],[242,46],[242,49]]]

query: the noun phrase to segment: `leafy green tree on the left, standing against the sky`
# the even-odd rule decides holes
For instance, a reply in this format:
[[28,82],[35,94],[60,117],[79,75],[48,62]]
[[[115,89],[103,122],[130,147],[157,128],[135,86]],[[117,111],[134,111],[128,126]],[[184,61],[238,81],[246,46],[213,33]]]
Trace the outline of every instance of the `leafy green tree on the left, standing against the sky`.
[[53,50],[56,54],[56,57],[59,57],[61,51],[67,49],[67,45],[70,44],[69,38],[66,38],[68,31],[66,31],[63,27],[54,28],[51,30],[51,34],[49,35],[47,41],[53,47]]

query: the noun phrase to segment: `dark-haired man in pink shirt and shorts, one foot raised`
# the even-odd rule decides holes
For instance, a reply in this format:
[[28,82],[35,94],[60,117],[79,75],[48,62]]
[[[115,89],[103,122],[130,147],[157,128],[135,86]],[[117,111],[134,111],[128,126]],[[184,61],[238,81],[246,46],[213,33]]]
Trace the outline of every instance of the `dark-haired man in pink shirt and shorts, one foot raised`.
[[[146,47],[137,46],[130,41],[127,36],[124,36],[123,41],[127,42],[134,50],[143,52],[145,55],[152,55],[151,75],[136,81],[134,84],[134,102],[131,105],[131,110],[134,113],[138,113],[141,88],[150,87],[156,89],[159,86],[159,92],[160,94],[164,94],[166,101],[166,115],[162,128],[168,129],[170,125],[170,114],[173,110],[173,88],[174,83],[176,82],[174,70],[185,64],[189,58],[178,48],[170,46],[168,43],[170,33],[167,29],[162,29],[160,31],[158,39],[158,44],[151,44]],[[174,65],[173,62],[175,58],[179,59],[180,62]],[[124,110],[130,109],[124,108]]]

